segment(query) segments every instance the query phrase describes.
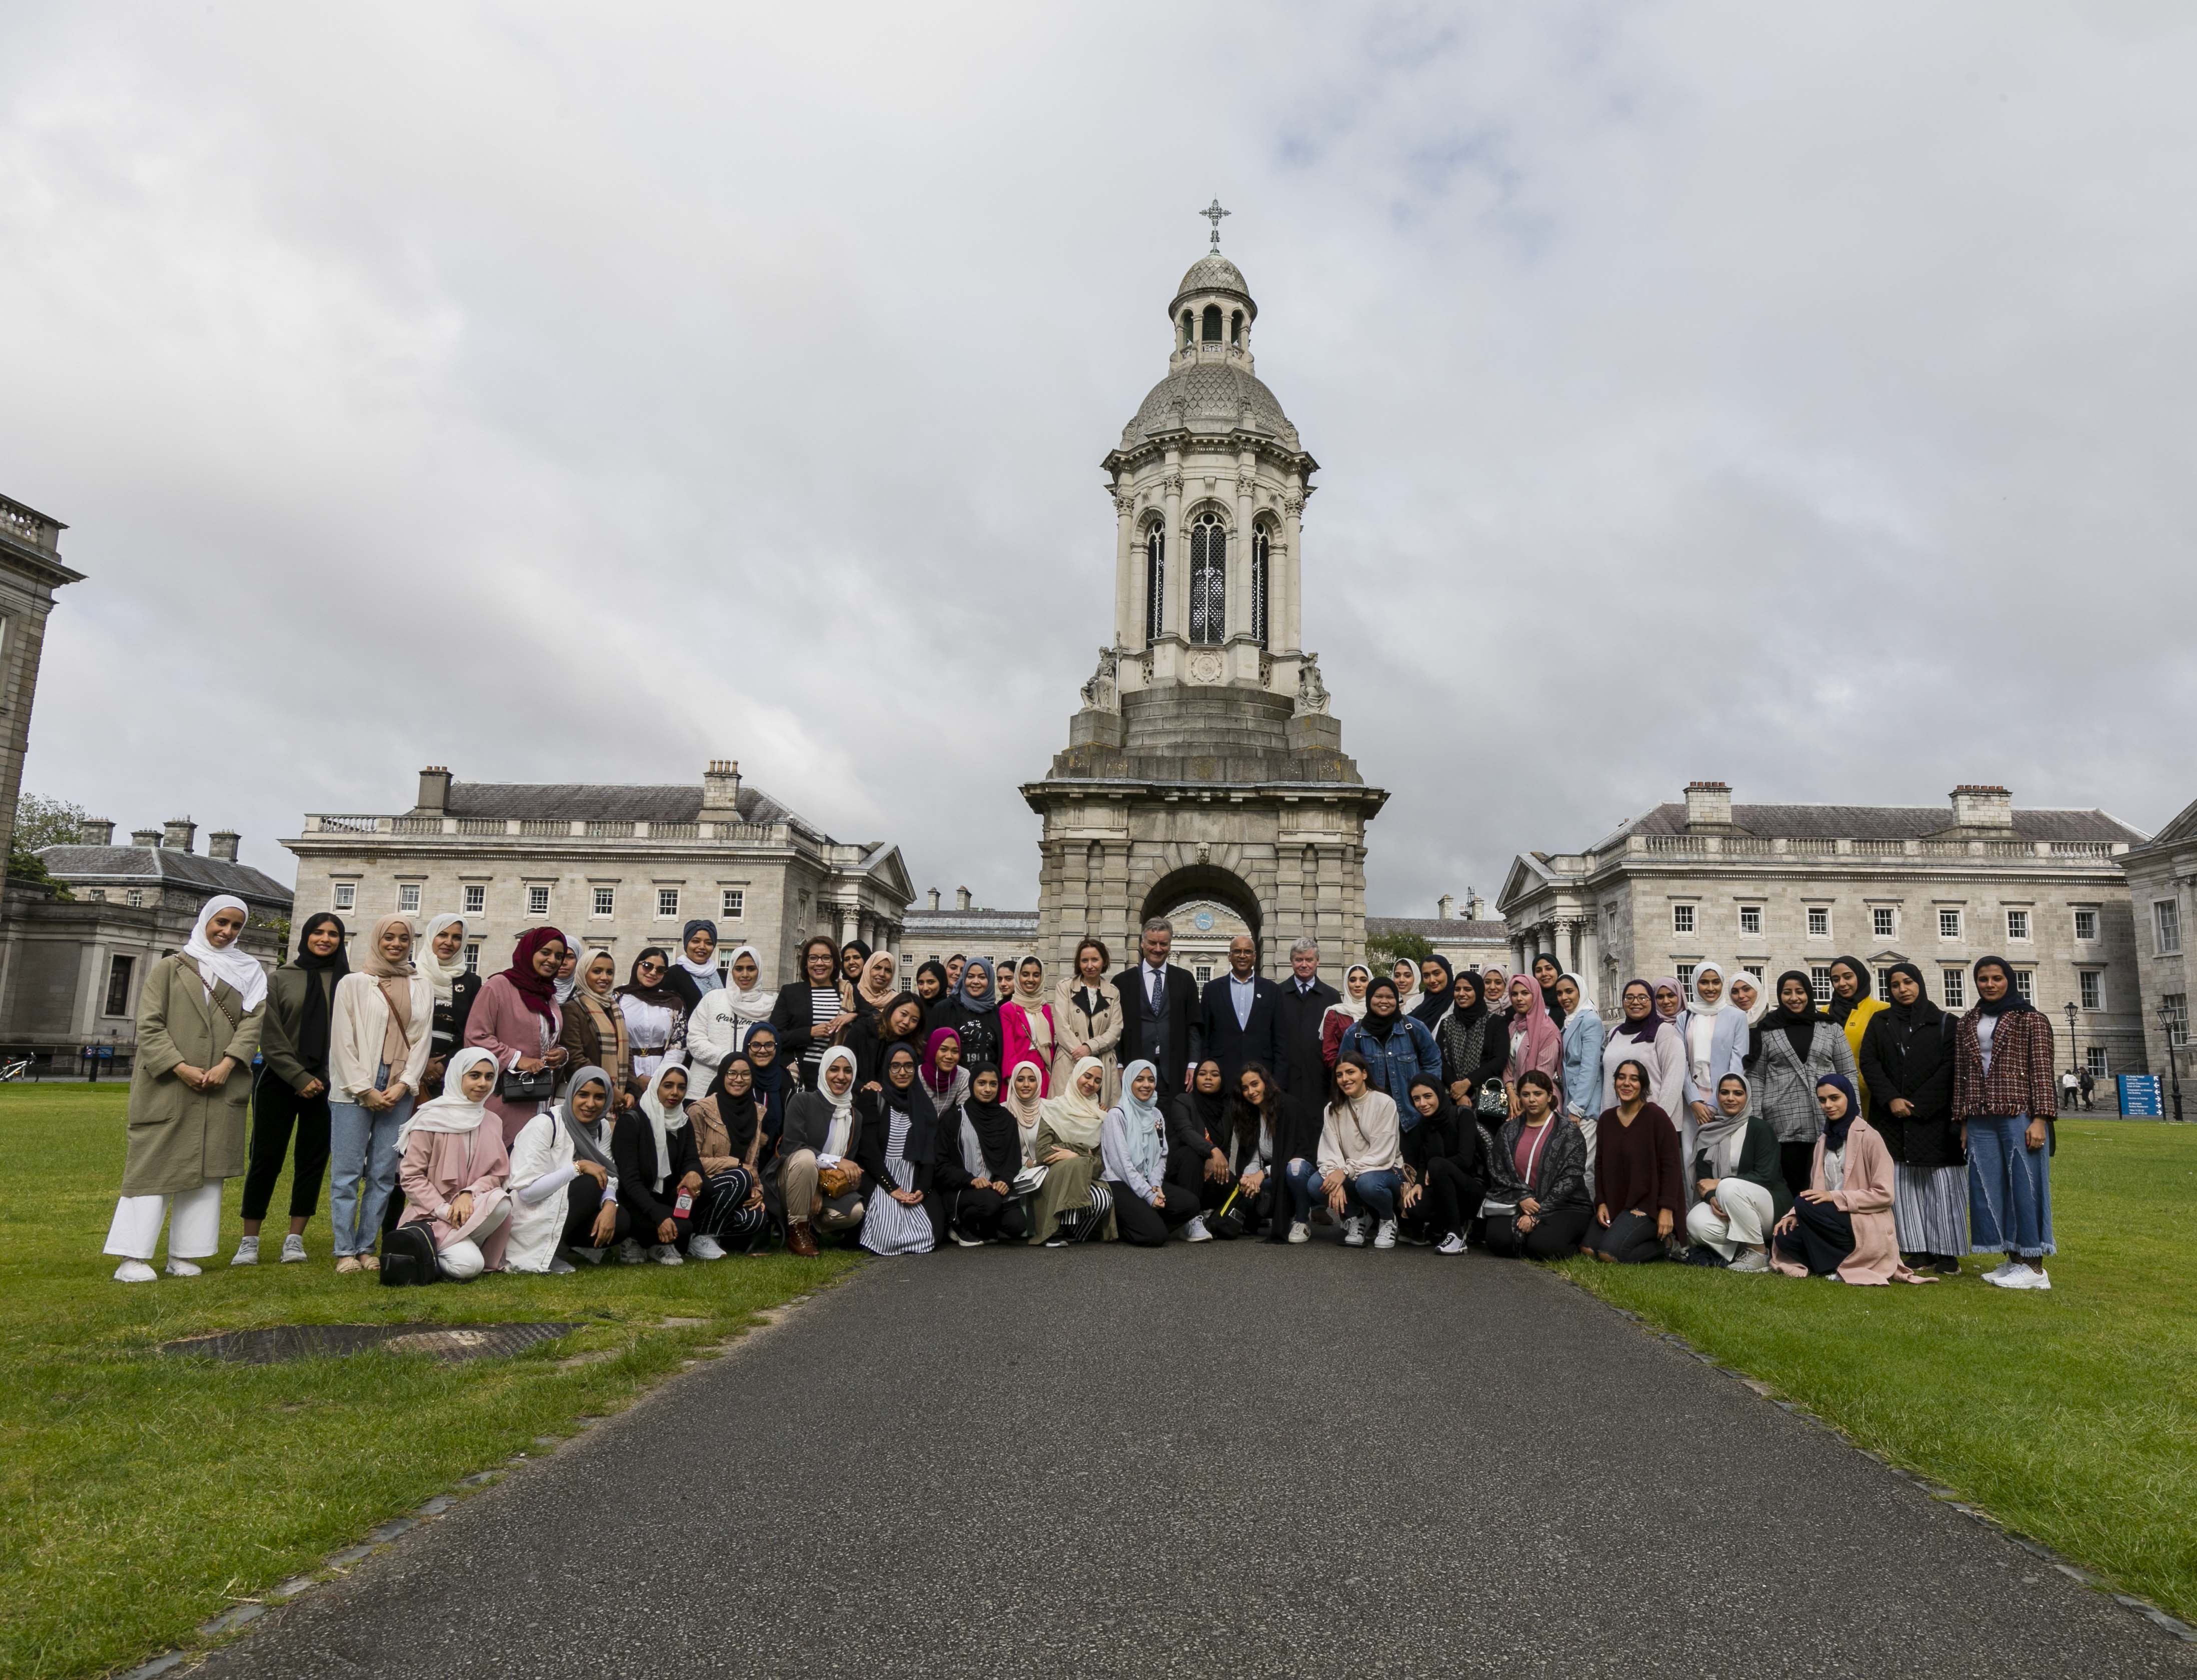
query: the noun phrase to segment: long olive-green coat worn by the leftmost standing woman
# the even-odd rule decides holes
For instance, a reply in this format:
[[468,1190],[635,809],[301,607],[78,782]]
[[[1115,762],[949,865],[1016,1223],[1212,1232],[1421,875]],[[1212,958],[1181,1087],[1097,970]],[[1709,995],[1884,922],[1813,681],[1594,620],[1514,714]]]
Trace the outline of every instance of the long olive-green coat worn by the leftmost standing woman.
[[[237,1026],[228,1026],[228,1015]],[[138,993],[125,1197],[182,1195],[207,1179],[244,1173],[244,1111],[264,1015],[264,1001],[246,1012],[226,982],[215,982],[209,999],[198,966],[185,955],[152,966]],[[193,1091],[176,1078],[182,1063],[213,1067],[222,1056],[235,1061],[235,1069],[218,1091]]]

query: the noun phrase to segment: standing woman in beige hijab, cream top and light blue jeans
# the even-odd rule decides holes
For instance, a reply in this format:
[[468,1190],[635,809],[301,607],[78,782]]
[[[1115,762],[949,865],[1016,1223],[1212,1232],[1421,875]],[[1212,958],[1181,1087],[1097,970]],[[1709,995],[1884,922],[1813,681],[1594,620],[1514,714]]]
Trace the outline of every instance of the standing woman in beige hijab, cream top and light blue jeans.
[[413,931],[382,916],[358,968],[336,982],[327,1030],[327,1214],[336,1272],[378,1272],[373,1241],[398,1184],[398,1133],[411,1120],[435,1030],[435,986],[413,968]]

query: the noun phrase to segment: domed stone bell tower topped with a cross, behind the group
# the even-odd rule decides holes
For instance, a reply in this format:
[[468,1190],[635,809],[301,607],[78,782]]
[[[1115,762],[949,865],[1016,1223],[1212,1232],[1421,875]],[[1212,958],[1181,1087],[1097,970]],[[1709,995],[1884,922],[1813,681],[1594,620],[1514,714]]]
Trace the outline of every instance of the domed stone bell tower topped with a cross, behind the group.
[[1147,916],[1237,909],[1261,971],[1320,940],[1364,949],[1364,830],[1386,802],[1342,751],[1303,646],[1303,514],[1318,470],[1257,376],[1259,305],[1219,250],[1167,305],[1162,378],[1103,468],[1114,496],[1114,637],[1068,749],[1022,797],[1044,817],[1037,938],[1066,964],[1096,933],[1116,966]]

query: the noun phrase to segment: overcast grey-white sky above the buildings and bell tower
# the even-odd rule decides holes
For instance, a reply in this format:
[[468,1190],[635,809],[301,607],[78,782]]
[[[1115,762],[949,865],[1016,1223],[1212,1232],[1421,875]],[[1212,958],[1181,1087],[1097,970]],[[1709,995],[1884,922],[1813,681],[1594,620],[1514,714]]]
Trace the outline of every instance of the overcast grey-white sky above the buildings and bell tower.
[[749,782],[1035,903],[1224,250],[1375,914],[1738,799],[2197,795],[2184,4],[18,4],[24,786]]

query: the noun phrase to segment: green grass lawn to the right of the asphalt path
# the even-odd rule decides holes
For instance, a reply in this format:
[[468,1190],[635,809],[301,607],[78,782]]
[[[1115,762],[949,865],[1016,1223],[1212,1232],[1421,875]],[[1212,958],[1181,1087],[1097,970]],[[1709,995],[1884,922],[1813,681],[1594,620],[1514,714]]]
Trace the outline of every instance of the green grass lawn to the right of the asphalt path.
[[1566,1261],[1604,1300],[1771,1384],[1874,1454],[2197,1621],[2197,1127],[2059,1127],[2050,1293],[1997,1261],[1845,1289]]

